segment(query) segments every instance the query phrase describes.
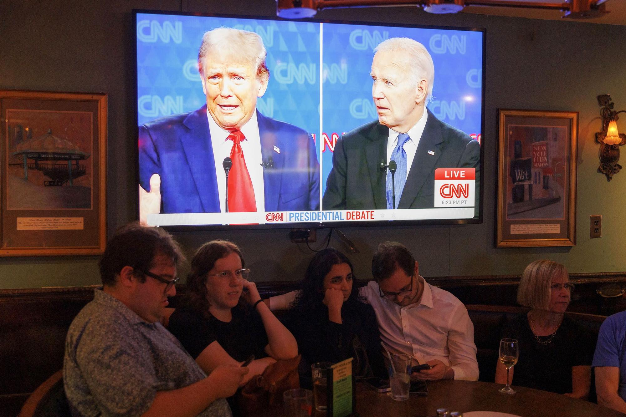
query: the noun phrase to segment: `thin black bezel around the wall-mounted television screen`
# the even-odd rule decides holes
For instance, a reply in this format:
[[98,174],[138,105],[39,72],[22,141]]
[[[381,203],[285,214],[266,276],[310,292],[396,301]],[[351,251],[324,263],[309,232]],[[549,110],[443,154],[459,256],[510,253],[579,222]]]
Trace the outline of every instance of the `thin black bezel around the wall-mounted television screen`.
[[[371,21],[345,21],[345,20],[332,20],[332,19],[283,19],[278,16],[250,16],[245,14],[218,14],[218,13],[192,13],[182,11],[161,11],[161,10],[146,10],[146,9],[133,9],[133,88],[134,98],[133,101],[133,120],[134,120],[134,140],[135,140],[135,185],[139,185],[139,147],[136,141],[139,137],[139,113],[137,109],[138,103],[138,85],[137,85],[137,15],[138,14],[160,14],[169,16],[195,16],[195,17],[207,17],[207,18],[230,18],[230,19],[249,19],[249,20],[267,20],[267,21],[286,21],[286,22],[311,22],[311,23],[331,23],[331,24],[359,24],[359,25],[371,25],[371,26],[385,26],[389,28],[416,28],[416,29],[441,29],[441,30],[453,30],[453,31],[467,31],[467,32],[481,32],[483,34],[483,55],[482,55],[482,74],[481,74],[481,120],[480,120],[480,193],[478,202],[478,218],[472,219],[414,219],[414,220],[363,220],[353,222],[302,222],[302,223],[272,223],[272,224],[255,224],[255,225],[165,225],[164,229],[172,231],[211,231],[211,230],[262,230],[262,229],[328,229],[337,227],[396,227],[396,226],[419,226],[419,225],[452,225],[452,224],[482,224],[483,223],[483,209],[485,207],[485,87],[486,87],[486,29],[485,28],[465,28],[460,26],[434,26],[423,24],[398,24],[398,23],[379,23]],[[320,158],[322,153],[320,152]],[[321,175],[321,172],[320,172]],[[322,178],[320,177],[320,182]],[[139,196],[135,193],[135,219],[139,219]],[[414,209],[421,210],[421,209]],[[354,210],[354,211],[367,211],[366,209]]]

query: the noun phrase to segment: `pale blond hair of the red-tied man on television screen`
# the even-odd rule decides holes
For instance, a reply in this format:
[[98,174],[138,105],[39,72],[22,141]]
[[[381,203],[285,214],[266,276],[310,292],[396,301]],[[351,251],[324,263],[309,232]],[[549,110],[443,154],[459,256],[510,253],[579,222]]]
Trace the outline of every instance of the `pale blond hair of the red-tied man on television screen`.
[[254,64],[259,80],[267,80],[269,77],[269,70],[265,66],[267,51],[257,33],[233,28],[217,28],[206,32],[198,51],[200,74],[203,74],[204,58],[213,50]]

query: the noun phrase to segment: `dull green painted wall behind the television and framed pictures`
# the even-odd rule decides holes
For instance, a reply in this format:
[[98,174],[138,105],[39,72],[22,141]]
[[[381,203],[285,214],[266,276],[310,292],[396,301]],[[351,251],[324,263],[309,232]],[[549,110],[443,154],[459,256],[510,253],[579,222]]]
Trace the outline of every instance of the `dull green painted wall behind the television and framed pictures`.
[[[0,89],[108,94],[109,234],[133,220],[136,210],[133,8],[275,15],[274,0],[0,2]],[[593,140],[600,128],[597,95],[610,93],[617,108],[626,108],[626,54],[621,53],[626,26],[463,13],[433,15],[417,8],[339,9],[317,17],[486,28],[484,223],[344,228],[361,250],[351,255],[357,276],[369,277],[371,255],[384,240],[408,245],[426,276],[519,274],[528,262],[539,258],[563,262],[571,272],[626,270],[622,255],[626,172],[607,183],[596,172],[598,145]],[[493,247],[498,108],[580,112],[577,246]],[[620,127],[626,130],[626,122]],[[591,214],[603,216],[601,239],[588,237]],[[246,264],[253,271],[263,271],[255,274],[258,281],[298,279],[311,252],[304,245],[292,244],[287,232],[193,232],[177,237],[189,255],[207,240],[234,240],[244,249]],[[318,239],[326,235],[327,230],[320,230]],[[331,244],[347,250],[335,238]],[[2,258],[0,289],[98,284],[97,262],[97,257]],[[186,269],[181,272],[184,275]]]

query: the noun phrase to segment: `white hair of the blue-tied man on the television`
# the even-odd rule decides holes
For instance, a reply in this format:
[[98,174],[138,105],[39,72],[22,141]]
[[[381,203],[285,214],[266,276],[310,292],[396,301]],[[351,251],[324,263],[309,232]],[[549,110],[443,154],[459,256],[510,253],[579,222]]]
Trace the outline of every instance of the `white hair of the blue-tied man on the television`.
[[433,96],[433,58],[431,58],[428,49],[423,44],[411,38],[389,38],[374,48],[374,53],[379,51],[403,53],[409,61],[409,71],[415,81],[415,85],[418,85],[421,80],[426,80],[428,85],[426,100]]

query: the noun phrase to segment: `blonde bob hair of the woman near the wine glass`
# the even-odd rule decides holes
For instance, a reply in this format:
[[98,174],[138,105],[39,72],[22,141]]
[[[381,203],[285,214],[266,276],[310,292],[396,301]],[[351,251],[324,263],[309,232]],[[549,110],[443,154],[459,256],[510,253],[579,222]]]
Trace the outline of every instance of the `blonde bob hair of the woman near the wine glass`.
[[569,281],[567,269],[558,262],[545,259],[530,262],[521,274],[520,286],[517,287],[518,304],[531,309],[547,310],[552,278],[563,275]]

